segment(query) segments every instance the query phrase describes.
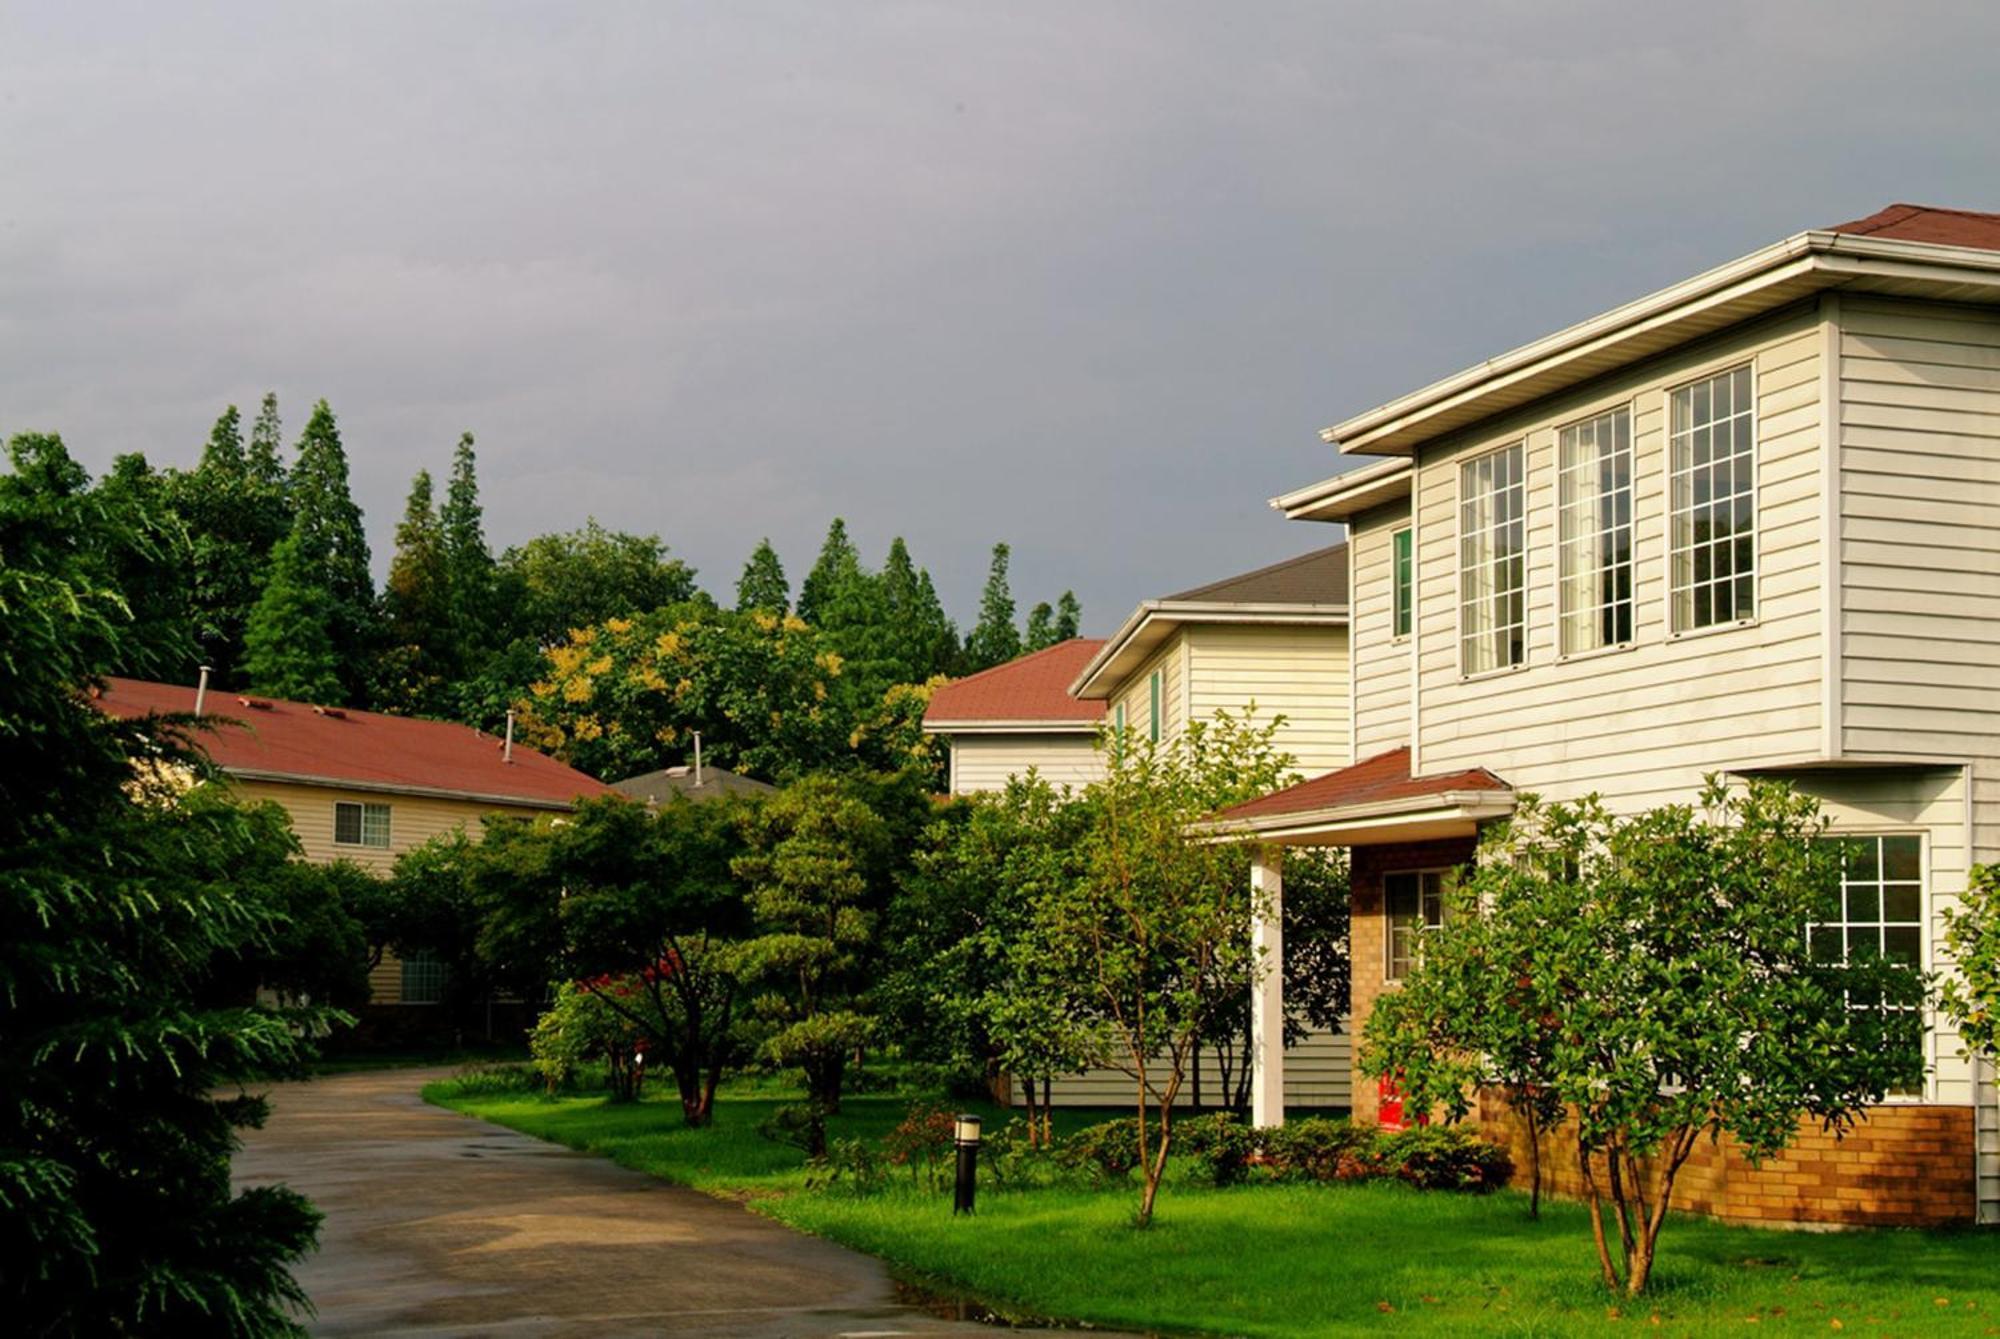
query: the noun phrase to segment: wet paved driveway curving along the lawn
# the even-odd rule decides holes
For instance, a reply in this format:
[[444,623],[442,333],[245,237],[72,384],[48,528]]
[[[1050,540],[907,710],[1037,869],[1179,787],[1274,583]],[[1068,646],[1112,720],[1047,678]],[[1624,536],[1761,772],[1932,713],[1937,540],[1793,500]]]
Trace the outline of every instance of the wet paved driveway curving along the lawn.
[[876,1259],[426,1105],[446,1073],[278,1085],[236,1157],[326,1213],[298,1269],[318,1335],[994,1335],[904,1305]]

